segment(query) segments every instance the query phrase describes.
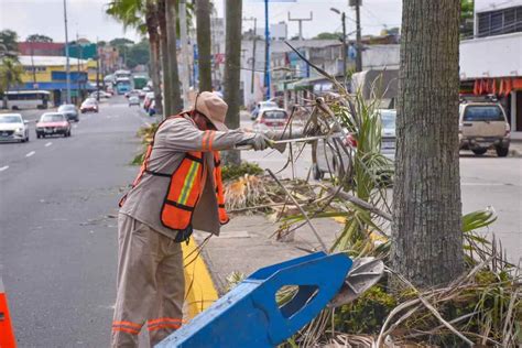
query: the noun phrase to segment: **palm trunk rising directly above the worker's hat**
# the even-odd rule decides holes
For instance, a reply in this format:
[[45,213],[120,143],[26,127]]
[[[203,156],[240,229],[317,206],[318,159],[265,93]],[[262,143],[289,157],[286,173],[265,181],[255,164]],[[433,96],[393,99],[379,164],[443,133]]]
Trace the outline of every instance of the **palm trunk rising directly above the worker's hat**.
[[197,51],[199,66],[199,91],[213,90],[210,2],[196,0]]

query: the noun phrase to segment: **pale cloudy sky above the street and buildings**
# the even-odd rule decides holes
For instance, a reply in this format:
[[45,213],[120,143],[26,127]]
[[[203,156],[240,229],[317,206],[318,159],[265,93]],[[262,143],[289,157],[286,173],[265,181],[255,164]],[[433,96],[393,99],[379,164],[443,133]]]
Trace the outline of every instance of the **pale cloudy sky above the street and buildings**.
[[[192,0],[187,0],[192,1]],[[67,20],[69,40],[76,35],[90,41],[110,41],[115,37],[128,37],[137,41],[139,34],[123,26],[105,14],[109,0],[67,0]],[[224,0],[214,0],[218,17],[224,14]],[[400,26],[401,0],[363,0],[361,7],[362,34],[379,34],[383,28]],[[295,2],[273,1],[270,3],[269,18],[271,23],[292,18],[308,18],[313,12],[313,21],[303,22],[303,35],[313,37],[320,32],[341,31],[340,15],[330,11],[337,8],[347,15],[347,33],[355,30],[355,12],[344,1],[297,0]],[[258,30],[264,28],[264,2],[261,0],[243,0],[243,18],[257,18]],[[251,29],[253,22],[243,21],[243,31]],[[65,41],[64,3],[63,0],[0,0],[0,29],[14,30],[20,39],[31,34],[44,34],[56,42]],[[289,37],[297,34],[297,22],[289,23]]]

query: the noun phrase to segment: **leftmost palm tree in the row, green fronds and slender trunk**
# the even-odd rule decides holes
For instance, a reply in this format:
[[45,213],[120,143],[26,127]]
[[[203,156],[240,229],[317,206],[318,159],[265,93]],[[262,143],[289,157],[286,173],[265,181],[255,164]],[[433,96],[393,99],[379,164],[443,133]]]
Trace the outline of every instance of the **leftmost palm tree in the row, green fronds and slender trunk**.
[[106,13],[123,24],[123,28],[135,28],[143,34],[148,34],[151,54],[151,79],[154,88],[154,97],[157,113],[163,113],[161,94],[161,61],[160,61],[160,34],[157,31],[157,6],[154,0],[112,0],[109,2]]

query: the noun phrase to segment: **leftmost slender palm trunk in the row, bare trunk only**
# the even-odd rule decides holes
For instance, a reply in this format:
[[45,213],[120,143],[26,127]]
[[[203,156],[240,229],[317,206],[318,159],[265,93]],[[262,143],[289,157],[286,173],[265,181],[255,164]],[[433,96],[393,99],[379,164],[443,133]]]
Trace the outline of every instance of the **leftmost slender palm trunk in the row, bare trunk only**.
[[154,90],[155,108],[159,115],[163,115],[163,104],[161,95],[161,62],[160,62],[160,34],[157,32],[157,10],[153,0],[146,1],[145,14],[146,31],[149,33],[149,44],[151,46],[151,79]]

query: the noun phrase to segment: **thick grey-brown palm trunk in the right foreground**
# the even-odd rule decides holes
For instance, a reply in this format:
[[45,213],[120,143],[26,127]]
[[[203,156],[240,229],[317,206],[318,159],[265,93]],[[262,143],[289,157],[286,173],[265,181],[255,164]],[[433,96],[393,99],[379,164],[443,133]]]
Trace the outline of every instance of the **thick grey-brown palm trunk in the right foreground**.
[[464,271],[459,10],[460,0],[403,0],[391,260],[420,287]]

